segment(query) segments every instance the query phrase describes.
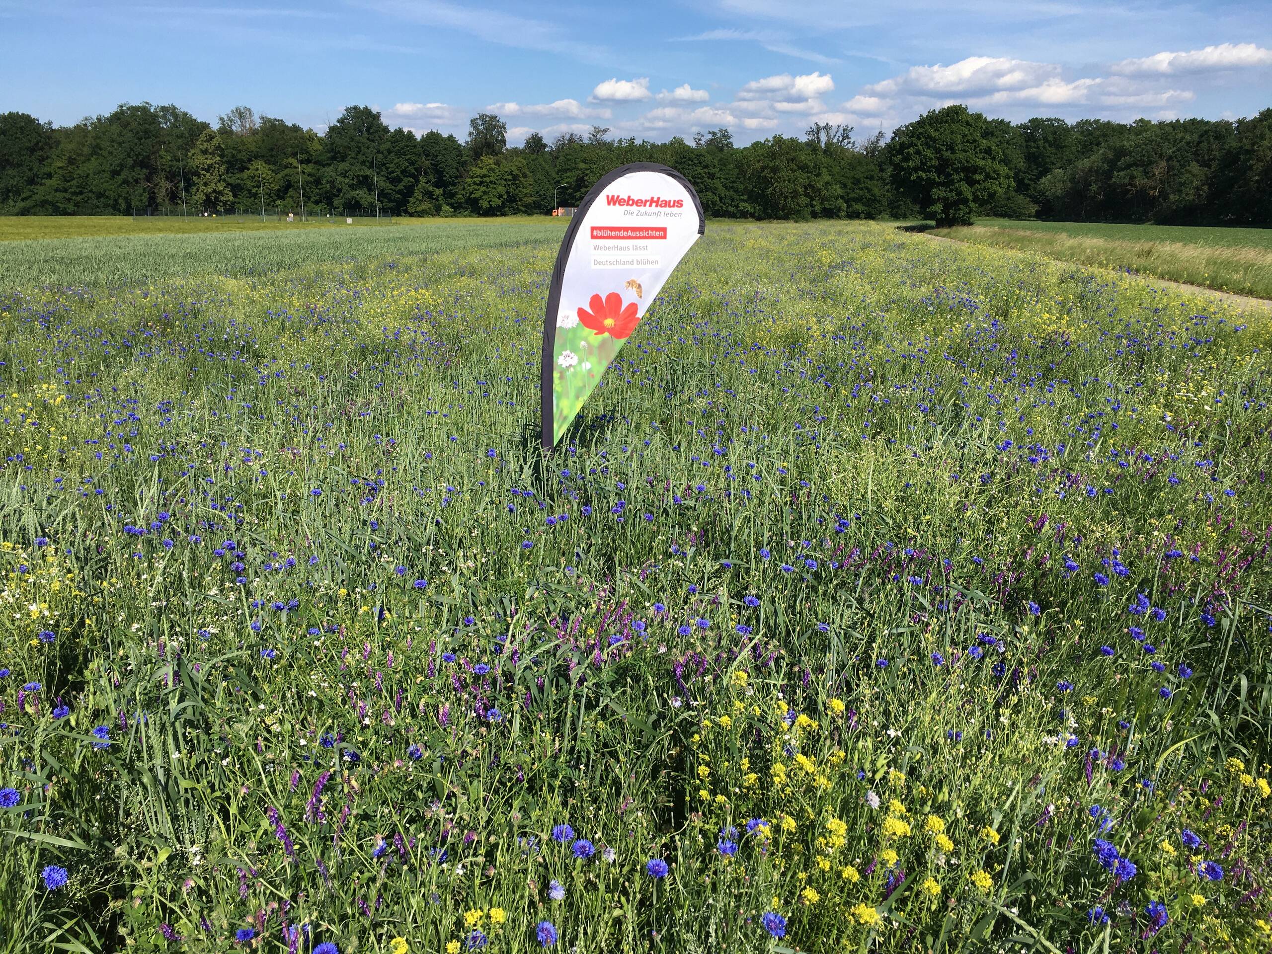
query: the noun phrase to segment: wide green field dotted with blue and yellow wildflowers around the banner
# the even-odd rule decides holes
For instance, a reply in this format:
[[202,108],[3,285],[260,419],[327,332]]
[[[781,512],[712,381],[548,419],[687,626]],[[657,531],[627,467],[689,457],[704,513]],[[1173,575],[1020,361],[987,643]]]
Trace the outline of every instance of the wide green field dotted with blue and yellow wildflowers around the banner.
[[1266,950],[1272,317],[560,232],[0,248],[0,949]]

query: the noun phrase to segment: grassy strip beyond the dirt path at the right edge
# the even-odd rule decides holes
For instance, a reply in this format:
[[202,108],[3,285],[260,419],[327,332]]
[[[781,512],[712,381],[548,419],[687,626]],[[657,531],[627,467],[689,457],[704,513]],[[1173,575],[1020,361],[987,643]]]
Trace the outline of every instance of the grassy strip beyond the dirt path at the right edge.
[[934,229],[930,234],[995,248],[1037,252],[1066,262],[1132,271],[1217,291],[1272,298],[1272,245],[1141,240],[1124,232],[1136,228],[1141,226],[1117,226],[1126,238],[996,225]]

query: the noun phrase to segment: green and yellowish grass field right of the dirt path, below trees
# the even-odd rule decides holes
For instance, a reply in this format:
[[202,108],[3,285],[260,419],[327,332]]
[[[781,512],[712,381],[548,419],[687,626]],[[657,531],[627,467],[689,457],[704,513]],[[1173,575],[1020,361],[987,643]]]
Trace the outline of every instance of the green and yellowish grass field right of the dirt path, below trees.
[[982,219],[932,234],[1272,298],[1272,229]]

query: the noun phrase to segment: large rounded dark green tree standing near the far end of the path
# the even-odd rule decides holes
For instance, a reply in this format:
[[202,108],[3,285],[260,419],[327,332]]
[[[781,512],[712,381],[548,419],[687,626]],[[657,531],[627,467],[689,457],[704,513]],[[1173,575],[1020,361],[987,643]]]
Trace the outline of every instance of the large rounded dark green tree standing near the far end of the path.
[[965,225],[1011,188],[996,130],[965,106],[932,109],[893,132],[893,186],[937,226]]

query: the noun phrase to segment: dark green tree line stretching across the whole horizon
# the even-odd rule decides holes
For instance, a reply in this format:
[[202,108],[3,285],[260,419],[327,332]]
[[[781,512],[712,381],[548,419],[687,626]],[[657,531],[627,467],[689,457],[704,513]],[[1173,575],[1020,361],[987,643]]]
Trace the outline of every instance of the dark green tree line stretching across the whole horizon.
[[547,214],[577,205],[609,169],[658,162],[693,183],[710,216],[977,215],[1067,221],[1272,225],[1272,109],[1243,120],[1131,123],[1032,118],[963,106],[855,139],[814,123],[803,139],[738,146],[726,128],[667,142],[594,126],[508,145],[492,113],[467,137],[389,128],[351,106],[318,135],[235,107],[216,126],[177,106],[121,104],[55,127],[0,114],[0,214],[127,215],[265,209],[310,214]]

